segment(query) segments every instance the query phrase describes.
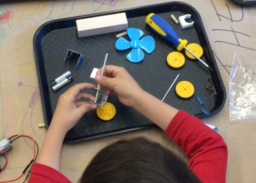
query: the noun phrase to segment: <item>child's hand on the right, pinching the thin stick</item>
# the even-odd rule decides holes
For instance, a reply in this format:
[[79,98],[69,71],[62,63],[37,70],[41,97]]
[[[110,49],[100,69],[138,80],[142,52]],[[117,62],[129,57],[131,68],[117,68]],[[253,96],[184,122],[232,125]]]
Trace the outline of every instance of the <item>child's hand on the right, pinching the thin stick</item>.
[[115,93],[120,102],[133,107],[136,95],[140,95],[143,90],[125,68],[106,65],[105,76],[101,76],[101,72],[102,68],[97,72],[95,80],[105,87],[105,92]]

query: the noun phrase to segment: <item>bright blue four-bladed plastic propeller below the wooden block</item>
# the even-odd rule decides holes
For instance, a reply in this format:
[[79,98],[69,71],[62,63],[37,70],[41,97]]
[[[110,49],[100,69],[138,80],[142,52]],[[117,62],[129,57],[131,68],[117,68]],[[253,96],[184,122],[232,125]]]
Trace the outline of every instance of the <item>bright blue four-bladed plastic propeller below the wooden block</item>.
[[133,63],[137,63],[143,60],[145,50],[147,53],[151,53],[154,51],[155,42],[152,36],[146,36],[140,40],[140,38],[144,35],[144,32],[140,29],[136,28],[128,28],[127,34],[131,41],[127,41],[125,38],[121,37],[116,41],[116,49],[124,50],[132,48],[131,52],[126,55],[128,61]]

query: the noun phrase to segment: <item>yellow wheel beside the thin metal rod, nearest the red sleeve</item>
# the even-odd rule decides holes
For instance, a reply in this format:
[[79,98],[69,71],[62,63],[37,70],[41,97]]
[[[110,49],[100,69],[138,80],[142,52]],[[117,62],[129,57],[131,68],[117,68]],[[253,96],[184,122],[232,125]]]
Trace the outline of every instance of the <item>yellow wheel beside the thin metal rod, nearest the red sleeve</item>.
[[182,99],[189,99],[195,93],[194,85],[189,81],[180,81],[175,87],[175,92],[177,96]]

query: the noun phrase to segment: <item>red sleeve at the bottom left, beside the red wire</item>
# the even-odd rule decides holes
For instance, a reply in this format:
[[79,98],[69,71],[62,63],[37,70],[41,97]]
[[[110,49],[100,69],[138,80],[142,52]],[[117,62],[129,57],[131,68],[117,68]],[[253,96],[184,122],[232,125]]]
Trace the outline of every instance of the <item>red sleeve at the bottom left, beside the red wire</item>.
[[34,163],[28,183],[71,183],[71,181],[54,168]]

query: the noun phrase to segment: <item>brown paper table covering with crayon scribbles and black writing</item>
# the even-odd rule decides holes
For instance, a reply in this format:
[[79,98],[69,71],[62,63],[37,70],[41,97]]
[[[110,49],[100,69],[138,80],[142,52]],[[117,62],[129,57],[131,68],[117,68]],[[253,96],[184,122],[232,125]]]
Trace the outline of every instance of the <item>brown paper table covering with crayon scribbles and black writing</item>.
[[[224,108],[203,119],[217,126],[228,146],[228,183],[255,182],[256,125],[231,124],[228,116],[228,81],[234,52],[256,58],[256,6],[240,6],[231,0],[181,0],[200,13],[227,91]],[[144,6],[167,0],[46,0],[0,3],[0,137],[31,135],[41,147],[46,133],[32,39],[38,27],[49,21],[116,9]],[[157,127],[137,130],[76,144],[64,144],[60,171],[72,182],[81,176],[90,158],[109,142],[145,136],[161,142],[186,159],[180,148]],[[31,160],[32,143],[19,139],[9,151],[10,161],[0,180],[17,177]],[[49,153],[51,151],[49,150]],[[187,159],[186,159],[187,160]],[[23,177],[24,178],[24,177]],[[18,180],[17,182],[22,182]]]

